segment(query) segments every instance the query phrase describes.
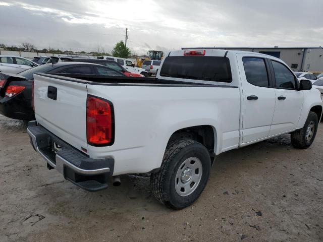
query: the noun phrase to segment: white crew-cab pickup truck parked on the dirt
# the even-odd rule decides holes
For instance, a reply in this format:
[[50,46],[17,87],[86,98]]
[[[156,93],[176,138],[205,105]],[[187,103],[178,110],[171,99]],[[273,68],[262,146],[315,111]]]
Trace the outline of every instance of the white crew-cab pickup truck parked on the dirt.
[[36,151],[88,191],[151,173],[153,194],[173,209],[204,190],[214,158],[282,134],[309,147],[320,93],[281,59],[216,49],[166,55],[156,79],[34,74]]

